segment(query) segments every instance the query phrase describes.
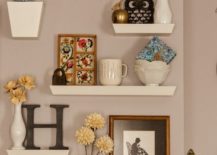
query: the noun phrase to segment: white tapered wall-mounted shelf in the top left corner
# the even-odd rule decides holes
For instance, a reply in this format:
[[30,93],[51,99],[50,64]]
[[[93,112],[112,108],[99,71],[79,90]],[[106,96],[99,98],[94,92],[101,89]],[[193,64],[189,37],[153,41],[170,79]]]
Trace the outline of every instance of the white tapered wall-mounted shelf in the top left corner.
[[38,37],[43,3],[43,0],[29,2],[7,1],[12,37]]

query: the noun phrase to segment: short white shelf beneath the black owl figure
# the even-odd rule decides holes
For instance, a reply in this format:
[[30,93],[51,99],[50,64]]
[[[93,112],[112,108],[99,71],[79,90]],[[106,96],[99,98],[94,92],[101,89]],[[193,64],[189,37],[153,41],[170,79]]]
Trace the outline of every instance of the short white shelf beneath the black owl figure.
[[117,34],[170,34],[175,24],[113,24]]

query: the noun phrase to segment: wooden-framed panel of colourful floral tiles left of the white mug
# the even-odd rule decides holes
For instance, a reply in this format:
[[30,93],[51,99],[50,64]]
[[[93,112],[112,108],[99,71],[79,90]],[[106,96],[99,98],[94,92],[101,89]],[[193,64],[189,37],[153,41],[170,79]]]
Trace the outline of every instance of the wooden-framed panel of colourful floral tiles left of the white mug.
[[96,35],[58,35],[58,67],[65,71],[67,85],[96,84],[96,53]]

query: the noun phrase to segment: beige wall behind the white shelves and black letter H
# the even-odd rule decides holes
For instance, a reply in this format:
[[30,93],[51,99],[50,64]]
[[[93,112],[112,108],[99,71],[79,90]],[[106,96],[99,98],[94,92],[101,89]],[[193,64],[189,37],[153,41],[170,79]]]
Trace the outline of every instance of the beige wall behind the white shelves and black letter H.
[[[171,1],[176,28],[168,37],[162,37],[178,56],[172,63],[167,85],[176,85],[174,97],[78,97],[52,96],[49,90],[50,72],[56,67],[56,36],[58,33],[90,33],[98,36],[98,59],[121,58],[129,65],[129,76],[124,84],[139,85],[134,75],[133,63],[137,52],[147,43],[145,36],[116,36],[111,26],[113,1],[102,0],[46,0],[41,35],[38,40],[17,40],[10,37],[6,0],[0,9],[0,84],[28,73],[37,79],[37,89],[29,95],[29,103],[42,104],[36,121],[46,123],[54,114],[46,105],[51,103],[70,104],[65,110],[64,143],[70,146],[71,154],[83,155],[84,149],[75,143],[75,130],[89,112],[103,115],[170,115],[171,155],[184,154],[184,87],[183,87],[183,1]],[[0,94],[0,154],[11,147],[9,136],[13,106],[1,89]],[[38,130],[36,144],[53,144],[53,132]],[[107,130],[103,131],[104,133]]]

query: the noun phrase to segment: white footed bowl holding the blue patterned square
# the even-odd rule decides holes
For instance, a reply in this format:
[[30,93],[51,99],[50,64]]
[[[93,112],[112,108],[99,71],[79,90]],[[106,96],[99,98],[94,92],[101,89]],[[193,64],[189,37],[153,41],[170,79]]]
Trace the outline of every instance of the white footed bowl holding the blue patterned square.
[[170,71],[170,66],[163,61],[136,60],[134,68],[139,80],[147,86],[159,86]]

